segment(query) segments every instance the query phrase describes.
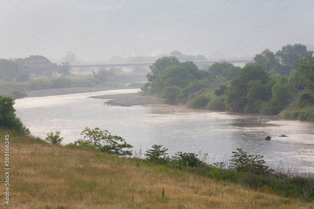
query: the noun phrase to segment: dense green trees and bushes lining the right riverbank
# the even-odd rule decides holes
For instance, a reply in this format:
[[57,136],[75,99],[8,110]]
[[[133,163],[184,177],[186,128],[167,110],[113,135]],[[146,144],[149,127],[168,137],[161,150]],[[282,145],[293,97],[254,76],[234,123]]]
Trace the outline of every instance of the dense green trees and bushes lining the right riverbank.
[[302,44],[269,49],[242,68],[225,60],[207,69],[175,56],[151,65],[142,95],[194,109],[260,113],[314,121],[314,56]]

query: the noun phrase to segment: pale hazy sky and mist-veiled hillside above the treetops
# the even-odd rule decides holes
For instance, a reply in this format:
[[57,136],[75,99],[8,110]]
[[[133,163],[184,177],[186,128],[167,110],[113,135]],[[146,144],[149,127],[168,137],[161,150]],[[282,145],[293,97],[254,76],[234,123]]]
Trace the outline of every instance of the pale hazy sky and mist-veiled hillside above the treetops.
[[310,0],[1,0],[0,10],[0,58],[74,51],[93,60],[157,50],[252,57],[314,43]]

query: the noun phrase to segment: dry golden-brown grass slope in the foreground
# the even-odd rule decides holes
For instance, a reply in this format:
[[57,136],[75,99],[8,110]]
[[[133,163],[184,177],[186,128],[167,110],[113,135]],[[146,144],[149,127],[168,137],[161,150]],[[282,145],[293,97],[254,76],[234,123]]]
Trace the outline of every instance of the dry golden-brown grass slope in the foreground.
[[165,166],[31,138],[10,141],[10,208],[313,208]]

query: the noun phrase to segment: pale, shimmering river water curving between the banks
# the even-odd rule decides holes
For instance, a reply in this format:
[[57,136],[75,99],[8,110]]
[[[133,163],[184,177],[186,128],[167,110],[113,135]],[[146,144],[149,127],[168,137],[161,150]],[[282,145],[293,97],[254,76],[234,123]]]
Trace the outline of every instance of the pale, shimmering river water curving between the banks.
[[[260,118],[244,114],[189,110],[161,106],[104,106],[106,100],[87,98],[106,94],[134,93],[139,89],[89,92],[50,97],[17,99],[16,115],[34,136],[60,130],[63,143],[79,138],[81,131],[101,128],[123,137],[133,150],[143,154],[154,144],[168,148],[169,154],[208,153],[208,159],[222,161],[236,148],[260,154],[269,164],[296,166],[314,172],[314,123]],[[262,122],[262,119],[264,120]],[[280,134],[288,137],[278,137]],[[270,141],[264,138],[269,135]]]

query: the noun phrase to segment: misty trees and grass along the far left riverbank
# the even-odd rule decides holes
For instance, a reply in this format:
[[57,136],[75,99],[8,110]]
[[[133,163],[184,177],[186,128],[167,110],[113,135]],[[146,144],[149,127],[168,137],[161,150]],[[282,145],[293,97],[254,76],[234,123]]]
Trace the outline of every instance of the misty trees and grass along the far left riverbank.
[[26,97],[27,93],[30,94],[32,91],[44,89],[90,87],[105,90],[117,86],[126,88],[121,85],[145,81],[147,73],[147,70],[139,67],[134,67],[132,72],[111,67],[87,69],[88,74],[80,75],[85,70],[79,69],[73,74],[68,62],[57,65],[41,55],[31,55],[24,59],[0,59],[0,94],[17,99]]

